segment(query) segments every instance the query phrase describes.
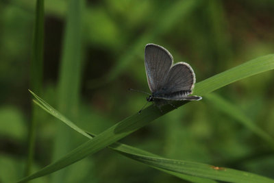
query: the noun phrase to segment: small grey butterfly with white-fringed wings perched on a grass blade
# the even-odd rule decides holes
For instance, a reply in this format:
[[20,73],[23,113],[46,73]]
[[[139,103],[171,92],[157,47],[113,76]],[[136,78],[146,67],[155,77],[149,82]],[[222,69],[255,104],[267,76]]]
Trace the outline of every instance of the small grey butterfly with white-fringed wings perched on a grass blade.
[[195,85],[195,73],[185,62],[173,64],[171,53],[159,45],[152,43],[145,47],[145,70],[151,95],[147,101],[156,106],[169,101],[200,100],[202,97],[189,96]]

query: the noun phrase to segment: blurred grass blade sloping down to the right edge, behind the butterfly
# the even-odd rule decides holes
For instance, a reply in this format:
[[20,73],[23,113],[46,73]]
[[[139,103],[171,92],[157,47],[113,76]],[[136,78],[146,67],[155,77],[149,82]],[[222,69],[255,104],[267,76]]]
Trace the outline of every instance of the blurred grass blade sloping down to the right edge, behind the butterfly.
[[251,121],[251,119],[249,119],[237,106],[213,93],[206,95],[205,99],[212,103],[216,110],[220,110],[221,112],[228,114],[230,117],[233,117],[238,122],[242,123],[242,125],[245,125],[245,127],[266,141],[266,143],[269,143],[271,148],[274,149],[273,137],[264,132],[264,130],[261,130],[260,127],[256,126],[253,121]]

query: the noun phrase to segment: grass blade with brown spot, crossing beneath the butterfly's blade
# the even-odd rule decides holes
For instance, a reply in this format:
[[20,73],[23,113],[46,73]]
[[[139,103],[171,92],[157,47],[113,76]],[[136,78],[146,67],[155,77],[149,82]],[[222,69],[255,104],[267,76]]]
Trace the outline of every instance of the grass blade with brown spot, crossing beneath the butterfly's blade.
[[[58,119],[60,119],[61,121],[66,123],[66,125],[69,125],[73,129],[77,127],[74,123],[72,123],[71,121],[63,117],[62,114],[60,114],[60,112],[52,108],[48,103],[46,103],[45,101],[42,101],[40,97],[38,97],[34,93],[32,94],[34,95],[34,97],[36,97],[36,99],[38,99],[38,101],[35,101],[35,102],[41,108],[49,112],[49,114],[52,114],[54,117],[57,117]],[[80,132],[81,134],[89,134],[90,136],[88,136],[88,138],[92,138],[95,136],[94,134],[84,132],[84,130],[81,130],[79,127],[77,127],[77,129],[78,129],[77,132]],[[273,180],[264,178],[260,175],[247,173],[244,171],[237,171],[237,170],[227,169],[227,168],[219,168],[209,164],[201,164],[197,162],[187,162],[187,161],[161,158],[160,156],[151,154],[147,151],[143,151],[142,149],[130,147],[129,145],[123,145],[121,143],[113,143],[109,147],[110,149],[113,149],[114,151],[124,156],[127,156],[128,158],[137,160],[139,162],[143,162],[149,165],[150,167],[159,169],[160,171],[165,171],[166,173],[175,175],[179,178],[182,178],[184,180],[188,180],[191,182],[213,182],[212,180],[207,180],[204,178],[210,178],[214,180],[223,180],[223,181],[229,181],[229,182],[273,181]],[[164,162],[162,160],[164,160]],[[184,173],[186,173],[187,175],[185,175]],[[190,175],[195,175],[201,178],[196,178]]]

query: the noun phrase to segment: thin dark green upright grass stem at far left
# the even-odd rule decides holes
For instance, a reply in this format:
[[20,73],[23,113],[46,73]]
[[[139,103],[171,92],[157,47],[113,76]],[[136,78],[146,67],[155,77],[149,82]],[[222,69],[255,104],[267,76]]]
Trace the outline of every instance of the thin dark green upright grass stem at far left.
[[[32,47],[30,84],[32,90],[40,93],[42,87],[42,62],[44,50],[44,0],[36,1],[36,16],[34,24],[34,38]],[[31,173],[32,160],[34,158],[34,144],[36,136],[36,112],[37,106],[32,105],[32,119],[29,125],[27,164],[25,176]]]

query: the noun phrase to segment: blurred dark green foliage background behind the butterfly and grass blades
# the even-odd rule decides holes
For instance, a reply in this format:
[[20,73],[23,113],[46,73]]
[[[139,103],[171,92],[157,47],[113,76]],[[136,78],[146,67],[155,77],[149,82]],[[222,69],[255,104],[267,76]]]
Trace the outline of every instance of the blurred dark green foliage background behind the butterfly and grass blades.
[[[129,93],[127,88],[149,91],[144,66],[144,48],[149,42],[168,49],[175,62],[188,62],[197,82],[274,52],[272,0],[81,2],[81,21],[70,25],[72,29],[78,28],[74,39],[77,41],[69,42],[64,39],[66,17],[74,17],[72,10],[76,7],[70,9],[69,1],[45,1],[44,64],[39,95],[89,132],[99,134],[145,104],[145,95]],[[0,182],[22,178],[27,160],[27,134],[32,119],[32,97],[27,89],[32,89],[30,60],[35,4],[34,0],[0,1]],[[68,33],[67,38],[70,36]],[[77,63],[77,71],[64,71],[62,60],[69,59],[72,64]],[[273,136],[273,80],[270,71],[215,93]],[[228,110],[212,97],[204,96],[203,100],[173,110],[121,142],[166,158],[274,178],[273,149]],[[37,110],[36,119],[32,172],[86,141],[41,109]],[[109,149],[32,182],[60,180],[184,182]]]

